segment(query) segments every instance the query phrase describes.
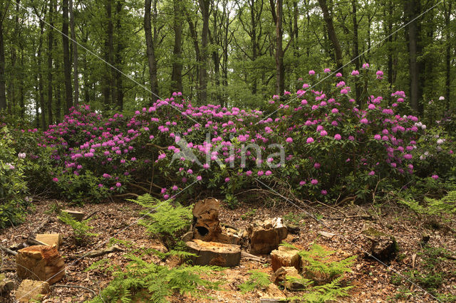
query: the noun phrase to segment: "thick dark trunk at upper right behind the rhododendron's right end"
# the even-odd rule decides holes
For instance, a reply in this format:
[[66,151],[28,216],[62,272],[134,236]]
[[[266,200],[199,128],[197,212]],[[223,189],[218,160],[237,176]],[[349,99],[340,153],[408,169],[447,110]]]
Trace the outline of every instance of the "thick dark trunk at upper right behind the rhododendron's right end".
[[410,73],[410,107],[412,107],[415,112],[420,112],[420,65],[418,64],[418,43],[419,35],[418,32],[418,22],[417,20],[412,21],[415,18],[415,14],[418,11],[417,6],[419,7],[420,0],[409,0],[405,4],[405,16],[407,21],[410,22],[408,25],[408,31],[406,31],[406,38],[408,40],[408,52],[410,56],[409,63],[409,73]]

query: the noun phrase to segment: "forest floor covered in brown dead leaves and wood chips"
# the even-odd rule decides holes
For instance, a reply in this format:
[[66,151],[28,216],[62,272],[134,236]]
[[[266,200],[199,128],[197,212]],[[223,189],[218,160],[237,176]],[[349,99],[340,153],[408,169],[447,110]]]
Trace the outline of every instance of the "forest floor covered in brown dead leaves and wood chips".
[[[6,247],[12,247],[23,243],[28,235],[40,225],[48,216],[56,217],[52,213],[51,205],[56,201],[38,201],[35,203],[36,209],[29,214],[25,222],[14,228],[7,228],[0,233],[0,244]],[[61,201],[58,201],[64,208],[70,206]],[[423,234],[430,235],[430,240],[427,243],[429,247],[446,248],[456,255],[456,236],[451,228],[455,230],[456,223],[447,223],[440,228],[437,225],[432,225],[436,229],[428,228],[429,222],[417,219],[413,213],[406,211],[404,208],[399,208],[396,204],[383,205],[373,207],[371,205],[357,206],[348,204],[336,208],[321,206],[314,204],[312,206],[303,206],[305,211],[296,209],[291,204],[282,204],[271,208],[262,203],[257,205],[249,203],[235,210],[222,208],[220,213],[220,221],[227,223],[237,228],[245,228],[249,223],[258,219],[274,218],[281,216],[285,222],[299,225],[300,232],[296,235],[289,235],[286,239],[291,244],[298,248],[309,248],[312,243],[318,243],[323,247],[336,250],[336,257],[345,258],[351,255],[358,255],[356,262],[353,264],[353,272],[346,274],[345,280],[353,285],[349,291],[349,297],[341,298],[340,302],[385,302],[391,300],[393,302],[435,302],[436,300],[418,289],[410,282],[405,284],[393,284],[393,270],[405,273],[412,270],[413,254],[418,252],[416,258],[416,267],[420,268],[421,258],[419,252],[423,250],[420,245],[420,240]],[[72,207],[71,209],[85,211],[86,213],[96,212],[93,220],[89,225],[93,226],[91,232],[98,233],[98,237],[93,238],[86,246],[77,246],[72,240],[72,230],[58,220],[53,223],[48,223],[41,233],[61,233],[63,234],[63,245],[59,248],[61,255],[67,258],[66,260],[66,277],[57,285],[79,285],[92,289],[93,292],[100,292],[108,282],[112,279],[110,275],[106,275],[103,271],[95,269],[85,271],[93,262],[108,258],[110,264],[125,266],[128,259],[125,254],[128,250],[137,248],[155,248],[157,250],[165,250],[165,247],[159,240],[153,239],[147,235],[145,228],[136,224],[140,218],[140,206],[128,201],[112,201],[103,204],[91,204],[86,207]],[[347,216],[358,216],[356,218],[342,219],[341,211]],[[311,213],[319,220],[315,220],[308,216]],[[370,215],[371,219],[362,218],[359,215]],[[448,224],[452,224],[449,226]],[[363,237],[361,232],[366,228],[375,228],[390,235],[394,235],[398,242],[400,251],[395,260],[388,262],[387,265],[380,264],[375,260],[363,257],[364,250],[368,248],[368,241]],[[326,231],[335,233],[331,238],[323,238],[318,235],[318,232]],[[119,244],[125,251],[111,252],[102,257],[85,257],[78,262],[71,260],[71,256],[81,255],[90,250],[98,250],[108,247],[108,240],[116,238],[118,240],[130,241],[133,244],[131,248]],[[367,242],[366,242],[367,241]],[[270,260],[269,256],[266,260]],[[269,258],[269,259],[268,259]],[[165,262],[160,260],[155,255],[147,255],[146,260],[150,260],[162,265],[170,267],[176,266],[179,262],[177,258],[168,258]],[[187,295],[176,294],[169,299],[172,302],[259,302],[261,290],[247,292],[243,294],[239,291],[239,285],[245,282],[249,277],[249,270],[258,269],[269,274],[272,273],[268,262],[260,263],[254,261],[242,260],[237,267],[217,272],[211,276],[211,279],[224,280],[222,290],[210,290],[207,295],[210,299],[201,297],[194,298]],[[456,261],[450,260],[445,264],[436,265],[435,272],[452,272],[450,278],[442,282],[442,286],[437,289],[441,294],[456,295]],[[0,272],[3,272],[7,277],[16,282],[16,287],[19,285],[19,280],[16,277],[16,266],[14,257],[3,255],[1,259]],[[403,289],[400,291],[400,289]],[[395,298],[398,292],[403,292],[403,297]],[[284,292],[287,297],[293,296],[291,292]],[[92,298],[94,294],[84,288],[76,287],[61,287],[56,286],[51,288],[51,294],[44,302],[84,302]],[[11,292],[11,297],[0,298],[0,302],[14,302],[14,291]]]

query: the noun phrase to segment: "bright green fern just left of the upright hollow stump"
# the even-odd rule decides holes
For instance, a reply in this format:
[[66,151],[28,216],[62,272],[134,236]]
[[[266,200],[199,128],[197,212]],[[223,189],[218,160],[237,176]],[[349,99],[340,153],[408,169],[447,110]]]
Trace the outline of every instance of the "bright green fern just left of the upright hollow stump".
[[160,201],[149,194],[130,200],[145,207],[141,214],[145,216],[139,221],[151,235],[158,235],[167,248],[174,248],[178,236],[189,226],[192,220],[192,206],[172,206],[170,201]]

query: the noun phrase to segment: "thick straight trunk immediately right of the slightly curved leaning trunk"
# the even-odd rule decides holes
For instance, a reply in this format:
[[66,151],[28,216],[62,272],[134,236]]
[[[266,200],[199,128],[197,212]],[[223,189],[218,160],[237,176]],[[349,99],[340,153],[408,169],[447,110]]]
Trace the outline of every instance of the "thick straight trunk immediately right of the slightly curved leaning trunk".
[[182,9],[181,0],[173,0],[174,6],[174,50],[172,51],[171,90],[182,92]]

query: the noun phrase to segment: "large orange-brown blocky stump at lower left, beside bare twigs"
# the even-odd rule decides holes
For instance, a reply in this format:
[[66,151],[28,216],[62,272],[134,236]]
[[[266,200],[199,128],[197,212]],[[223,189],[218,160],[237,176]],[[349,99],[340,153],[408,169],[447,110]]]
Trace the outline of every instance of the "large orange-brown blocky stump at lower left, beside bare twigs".
[[65,277],[65,261],[57,248],[35,245],[23,248],[16,255],[17,275],[21,279],[58,282]]

